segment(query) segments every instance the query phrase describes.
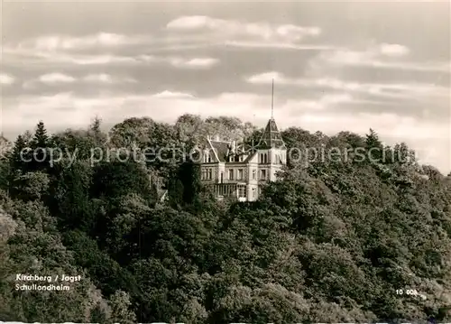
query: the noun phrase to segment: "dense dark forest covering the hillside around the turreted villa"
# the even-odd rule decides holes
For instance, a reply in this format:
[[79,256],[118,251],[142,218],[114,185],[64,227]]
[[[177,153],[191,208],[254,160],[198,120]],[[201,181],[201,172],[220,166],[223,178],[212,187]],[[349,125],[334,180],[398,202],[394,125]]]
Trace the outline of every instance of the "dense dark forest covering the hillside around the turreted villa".
[[[121,158],[261,132],[185,115],[174,125],[130,118],[108,133],[97,118],[57,134],[40,122],[14,143],[2,137],[0,320],[451,321],[451,175],[404,143],[291,127],[289,149],[379,148],[391,159],[291,159],[248,203],[213,199],[183,150]],[[23,159],[26,147],[45,150]],[[65,154],[53,161],[52,148]],[[16,291],[17,273],[81,280],[69,292]]]

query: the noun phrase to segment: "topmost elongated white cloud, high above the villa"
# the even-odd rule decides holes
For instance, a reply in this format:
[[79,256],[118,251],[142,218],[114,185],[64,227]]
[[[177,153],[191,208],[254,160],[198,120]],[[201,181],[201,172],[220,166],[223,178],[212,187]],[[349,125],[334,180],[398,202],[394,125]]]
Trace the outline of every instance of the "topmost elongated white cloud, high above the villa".
[[303,27],[293,24],[244,23],[235,20],[217,19],[208,16],[181,16],[170,21],[167,29],[185,32],[214,32],[216,37],[232,41],[235,37],[260,39],[262,41],[299,42],[305,37],[318,36],[318,27]]

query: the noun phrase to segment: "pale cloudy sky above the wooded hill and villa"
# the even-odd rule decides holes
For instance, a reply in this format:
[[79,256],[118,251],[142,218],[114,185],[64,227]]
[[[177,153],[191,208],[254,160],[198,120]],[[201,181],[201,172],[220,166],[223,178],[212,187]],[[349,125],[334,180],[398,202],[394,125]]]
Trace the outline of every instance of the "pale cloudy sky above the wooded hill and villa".
[[129,116],[238,116],[404,141],[450,166],[448,2],[4,2],[15,136]]

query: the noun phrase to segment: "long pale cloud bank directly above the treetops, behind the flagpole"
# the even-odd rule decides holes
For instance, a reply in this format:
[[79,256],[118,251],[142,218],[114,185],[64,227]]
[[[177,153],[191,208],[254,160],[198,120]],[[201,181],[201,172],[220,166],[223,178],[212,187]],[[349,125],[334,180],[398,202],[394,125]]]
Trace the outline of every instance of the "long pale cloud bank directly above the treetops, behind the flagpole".
[[[310,132],[319,130],[326,134],[344,130],[366,134],[371,127],[388,144],[405,141],[419,150],[427,158],[426,162],[433,162],[440,170],[446,171],[448,168],[449,171],[448,121],[428,121],[396,114],[351,113],[334,108],[337,102],[349,100],[353,100],[349,95],[325,96],[318,102],[290,100],[278,103],[275,118],[282,128],[299,125]],[[248,93],[198,98],[171,91],[156,95],[103,93],[98,97],[78,97],[74,93],[60,93],[55,96],[17,97],[4,100],[4,129],[5,132],[32,129],[40,119],[50,131],[61,127],[85,127],[96,115],[107,123],[120,122],[130,116],[151,116],[159,121],[174,122],[177,116],[185,113],[204,117],[237,116],[244,121],[264,125],[271,114],[268,102],[271,102],[271,97]],[[439,154],[428,156],[428,149]]]

